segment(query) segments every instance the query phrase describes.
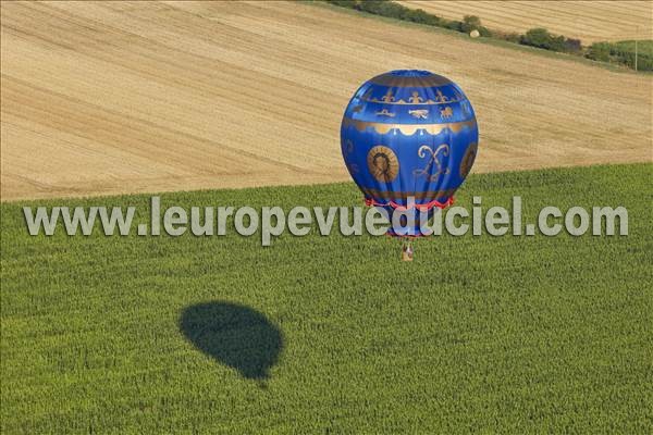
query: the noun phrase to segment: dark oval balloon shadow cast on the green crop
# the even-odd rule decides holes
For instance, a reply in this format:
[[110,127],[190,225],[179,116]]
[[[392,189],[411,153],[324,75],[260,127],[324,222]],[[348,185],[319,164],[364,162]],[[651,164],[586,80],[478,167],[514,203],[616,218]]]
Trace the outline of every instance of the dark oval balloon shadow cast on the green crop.
[[248,380],[264,381],[283,349],[283,334],[263,314],[231,302],[206,302],[182,312],[180,328],[199,350]]

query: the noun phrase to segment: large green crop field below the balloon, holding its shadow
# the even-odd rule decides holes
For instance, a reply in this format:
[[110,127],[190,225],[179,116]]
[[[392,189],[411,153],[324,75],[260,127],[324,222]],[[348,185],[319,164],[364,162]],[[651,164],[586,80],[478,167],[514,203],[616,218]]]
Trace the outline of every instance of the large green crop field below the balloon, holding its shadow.
[[[1,206],[1,432],[653,431],[653,165],[472,175],[458,203],[625,206],[629,235],[27,235]],[[48,206],[137,206],[148,196]],[[360,204],[353,183],[164,206]],[[35,206],[36,203],[30,203]]]

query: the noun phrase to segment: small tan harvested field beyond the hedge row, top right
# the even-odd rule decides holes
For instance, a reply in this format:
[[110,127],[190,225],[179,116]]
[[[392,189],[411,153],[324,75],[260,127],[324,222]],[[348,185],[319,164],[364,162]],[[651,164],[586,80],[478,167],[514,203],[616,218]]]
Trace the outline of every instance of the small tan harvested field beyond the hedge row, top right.
[[546,27],[583,44],[653,38],[653,2],[645,1],[401,1],[448,20],[477,15],[484,26],[525,33]]

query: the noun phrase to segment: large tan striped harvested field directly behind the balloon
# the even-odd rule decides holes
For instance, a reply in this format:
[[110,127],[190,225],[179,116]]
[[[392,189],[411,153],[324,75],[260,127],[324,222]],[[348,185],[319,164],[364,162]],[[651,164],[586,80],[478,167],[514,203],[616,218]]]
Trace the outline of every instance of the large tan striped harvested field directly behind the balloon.
[[652,157],[651,76],[309,4],[1,8],[2,200],[346,181],[348,98],[406,67],[465,89],[477,172]]

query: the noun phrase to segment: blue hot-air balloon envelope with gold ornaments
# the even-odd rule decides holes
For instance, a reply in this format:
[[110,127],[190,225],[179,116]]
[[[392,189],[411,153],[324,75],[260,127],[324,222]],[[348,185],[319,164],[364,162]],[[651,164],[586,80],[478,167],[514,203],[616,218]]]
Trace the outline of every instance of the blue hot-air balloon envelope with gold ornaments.
[[341,126],[345,164],[366,203],[401,213],[389,234],[421,236],[421,221],[453,202],[476,159],[479,129],[463,90],[448,78],[397,70],[366,82]]

